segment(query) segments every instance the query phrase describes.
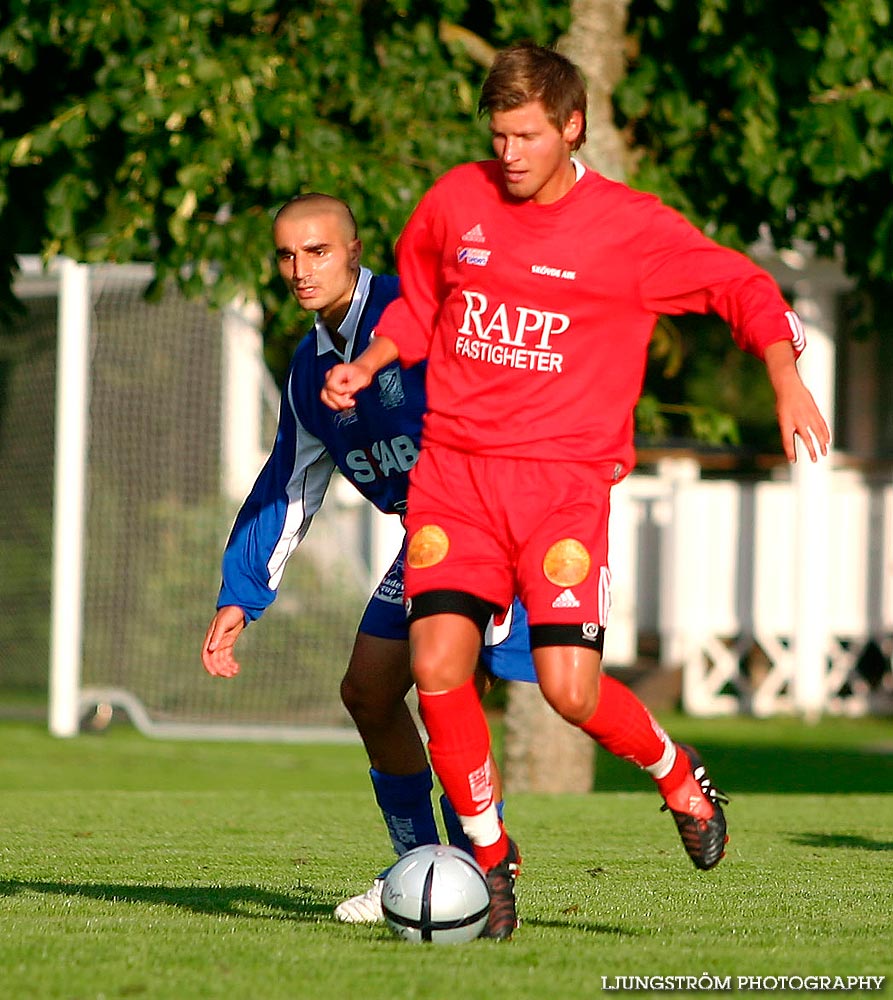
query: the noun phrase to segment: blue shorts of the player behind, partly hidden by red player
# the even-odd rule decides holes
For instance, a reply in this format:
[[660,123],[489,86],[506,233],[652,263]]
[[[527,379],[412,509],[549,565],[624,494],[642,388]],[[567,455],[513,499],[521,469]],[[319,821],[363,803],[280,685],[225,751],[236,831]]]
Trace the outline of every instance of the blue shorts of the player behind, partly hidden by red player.
[[[379,639],[409,639],[409,626],[403,606],[403,559],[406,543],[369,599],[359,631]],[[530,655],[527,612],[516,597],[501,625],[490,621],[484,634],[481,660],[487,670],[507,681],[536,684],[536,671]]]

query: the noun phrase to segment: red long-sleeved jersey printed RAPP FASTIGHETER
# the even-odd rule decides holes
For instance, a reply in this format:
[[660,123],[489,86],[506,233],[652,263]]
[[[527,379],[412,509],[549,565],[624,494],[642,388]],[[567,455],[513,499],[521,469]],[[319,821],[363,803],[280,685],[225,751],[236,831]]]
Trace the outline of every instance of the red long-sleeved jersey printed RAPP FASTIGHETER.
[[799,353],[774,280],[652,195],[586,170],[559,201],[505,193],[496,161],[440,178],[397,242],[376,333],[429,358],[423,443],[634,464],[633,410],[660,314],[715,312],[761,356]]

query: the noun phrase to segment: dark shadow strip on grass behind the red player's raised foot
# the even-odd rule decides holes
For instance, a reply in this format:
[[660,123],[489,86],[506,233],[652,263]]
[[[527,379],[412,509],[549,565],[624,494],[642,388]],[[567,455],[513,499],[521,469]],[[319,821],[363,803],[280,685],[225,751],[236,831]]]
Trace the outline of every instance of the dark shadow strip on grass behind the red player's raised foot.
[[[835,747],[747,746],[699,740],[698,752],[713,783],[736,792],[830,795],[893,792],[893,754],[886,750]],[[597,792],[653,789],[647,775],[601,751]]]

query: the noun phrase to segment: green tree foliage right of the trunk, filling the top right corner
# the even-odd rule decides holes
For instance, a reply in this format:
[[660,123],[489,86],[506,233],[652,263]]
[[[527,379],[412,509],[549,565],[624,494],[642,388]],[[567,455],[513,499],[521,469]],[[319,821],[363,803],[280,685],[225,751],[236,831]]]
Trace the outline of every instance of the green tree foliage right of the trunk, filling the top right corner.
[[616,104],[636,183],[724,243],[843,251],[893,274],[889,0],[632,0]]

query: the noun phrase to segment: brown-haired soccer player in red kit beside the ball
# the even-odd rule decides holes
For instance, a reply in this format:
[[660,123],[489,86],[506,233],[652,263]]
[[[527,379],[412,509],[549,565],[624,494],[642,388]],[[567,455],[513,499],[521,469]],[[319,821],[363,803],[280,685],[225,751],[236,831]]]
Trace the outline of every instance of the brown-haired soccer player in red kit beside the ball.
[[[634,464],[658,316],[715,312],[764,360],[790,461],[797,437],[816,461],[830,434],[797,371],[802,326],[769,275],[573,157],[586,91],[572,63],[506,49],[479,108],[496,158],[456,167],[422,198],[397,243],[401,297],[366,351],[331,370],[323,400],[349,408],[384,364],[428,359],[406,515],[412,669],[432,766],[488,873],[486,933],[505,939],[520,857],[493,802],[472,679],[482,630],[517,594],[549,704],[590,735],[622,718],[599,699],[609,497]],[[642,741],[645,753],[644,727]],[[697,756],[675,750],[676,791],[661,791],[686,846],[718,861],[715,790]]]

